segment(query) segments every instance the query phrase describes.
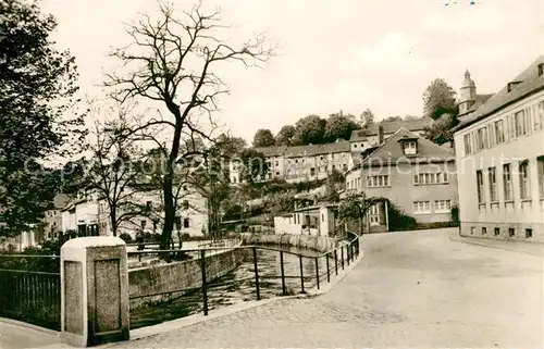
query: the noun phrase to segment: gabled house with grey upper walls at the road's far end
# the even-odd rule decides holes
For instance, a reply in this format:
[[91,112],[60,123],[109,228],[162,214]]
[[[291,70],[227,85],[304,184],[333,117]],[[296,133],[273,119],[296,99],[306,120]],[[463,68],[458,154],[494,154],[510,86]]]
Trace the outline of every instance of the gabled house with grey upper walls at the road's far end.
[[[384,198],[418,223],[452,221],[457,204],[454,153],[407,129],[399,129],[360,165],[346,173],[346,194]],[[372,232],[387,230],[386,202],[373,207],[367,222]]]

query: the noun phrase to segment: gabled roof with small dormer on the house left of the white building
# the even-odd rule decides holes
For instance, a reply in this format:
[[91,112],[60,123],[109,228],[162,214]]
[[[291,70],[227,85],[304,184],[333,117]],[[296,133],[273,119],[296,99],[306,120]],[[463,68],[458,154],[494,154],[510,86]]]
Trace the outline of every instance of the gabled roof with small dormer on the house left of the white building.
[[[405,155],[399,140],[403,139],[417,139],[418,140],[418,154]],[[384,165],[394,163],[406,163],[408,161],[446,161],[454,160],[454,152],[449,149],[443,148],[432,141],[419,137],[418,135],[409,132],[408,129],[400,128],[390,137],[381,147],[369,154],[361,163],[362,166]]]

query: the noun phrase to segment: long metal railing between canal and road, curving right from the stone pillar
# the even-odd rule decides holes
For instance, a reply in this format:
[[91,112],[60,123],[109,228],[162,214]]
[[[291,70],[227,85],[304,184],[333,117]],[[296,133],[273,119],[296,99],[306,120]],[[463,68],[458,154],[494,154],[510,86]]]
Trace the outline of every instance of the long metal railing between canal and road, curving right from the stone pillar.
[[[184,266],[184,272],[189,273],[187,278],[193,279],[193,284],[165,283],[164,289],[150,290],[149,287],[143,287],[140,291],[129,295],[131,327],[137,328],[200,312],[208,315],[210,310],[236,301],[306,294],[313,287],[320,289],[359,255],[359,236],[354,233],[351,235],[348,241],[323,253],[300,253],[267,246],[186,250],[184,252],[199,253],[199,258],[191,261],[194,269]],[[236,272],[228,273],[226,269],[222,275],[217,275],[220,262],[213,260],[213,255],[221,254],[218,250],[242,257],[243,261],[233,267]],[[178,252],[176,249],[144,250],[128,252],[128,257]],[[231,262],[236,255],[226,255],[224,259]],[[170,269],[169,273],[175,272]],[[228,297],[233,294],[237,295],[237,299],[230,300]],[[152,301],[146,303],[146,299]]]

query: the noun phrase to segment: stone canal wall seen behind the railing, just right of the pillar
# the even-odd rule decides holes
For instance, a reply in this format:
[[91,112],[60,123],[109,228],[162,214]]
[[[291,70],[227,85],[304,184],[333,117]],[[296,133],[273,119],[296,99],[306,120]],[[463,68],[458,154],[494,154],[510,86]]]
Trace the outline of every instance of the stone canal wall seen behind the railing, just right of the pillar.
[[[235,270],[248,253],[233,249],[205,258],[206,279],[212,282]],[[181,289],[202,285],[200,259],[128,270],[131,308],[144,308],[183,296]]]

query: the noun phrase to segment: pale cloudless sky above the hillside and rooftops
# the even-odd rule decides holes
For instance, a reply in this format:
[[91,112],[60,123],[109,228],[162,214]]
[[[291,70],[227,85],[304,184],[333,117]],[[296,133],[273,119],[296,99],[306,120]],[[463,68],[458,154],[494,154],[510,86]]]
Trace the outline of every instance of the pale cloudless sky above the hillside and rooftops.
[[[436,77],[458,90],[469,70],[479,94],[493,94],[544,53],[543,0],[203,0],[221,7],[233,42],[264,33],[277,45],[261,68],[220,72],[231,95],[218,122],[251,141],[258,128],[343,110],[378,120],[421,115]],[[194,1],[174,0],[177,9]],[[82,91],[119,65],[108,52],[129,42],[124,25],[153,0],[42,0],[58,20],[53,38],[75,55]]]

